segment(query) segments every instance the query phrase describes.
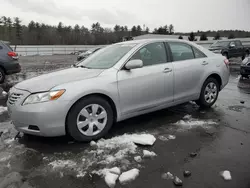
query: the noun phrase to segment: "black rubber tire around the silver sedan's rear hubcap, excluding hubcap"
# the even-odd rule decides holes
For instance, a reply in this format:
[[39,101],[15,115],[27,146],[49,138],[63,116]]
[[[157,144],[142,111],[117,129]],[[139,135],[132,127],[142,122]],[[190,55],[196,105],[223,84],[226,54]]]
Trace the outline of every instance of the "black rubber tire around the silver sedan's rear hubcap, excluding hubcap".
[[[216,85],[216,88],[217,88],[217,93],[216,93],[216,97],[214,99],[213,102],[211,103],[208,103],[206,100],[205,100],[205,89],[206,87],[208,86],[208,84],[210,83],[214,83]],[[220,89],[220,86],[219,86],[219,83],[218,81],[215,79],[215,78],[208,78],[202,88],[201,88],[201,93],[200,93],[200,98],[196,101],[196,104],[199,105],[200,107],[203,107],[203,108],[210,108],[211,106],[213,106],[213,104],[216,102],[217,98],[218,98],[218,95],[219,95],[219,89]]]

